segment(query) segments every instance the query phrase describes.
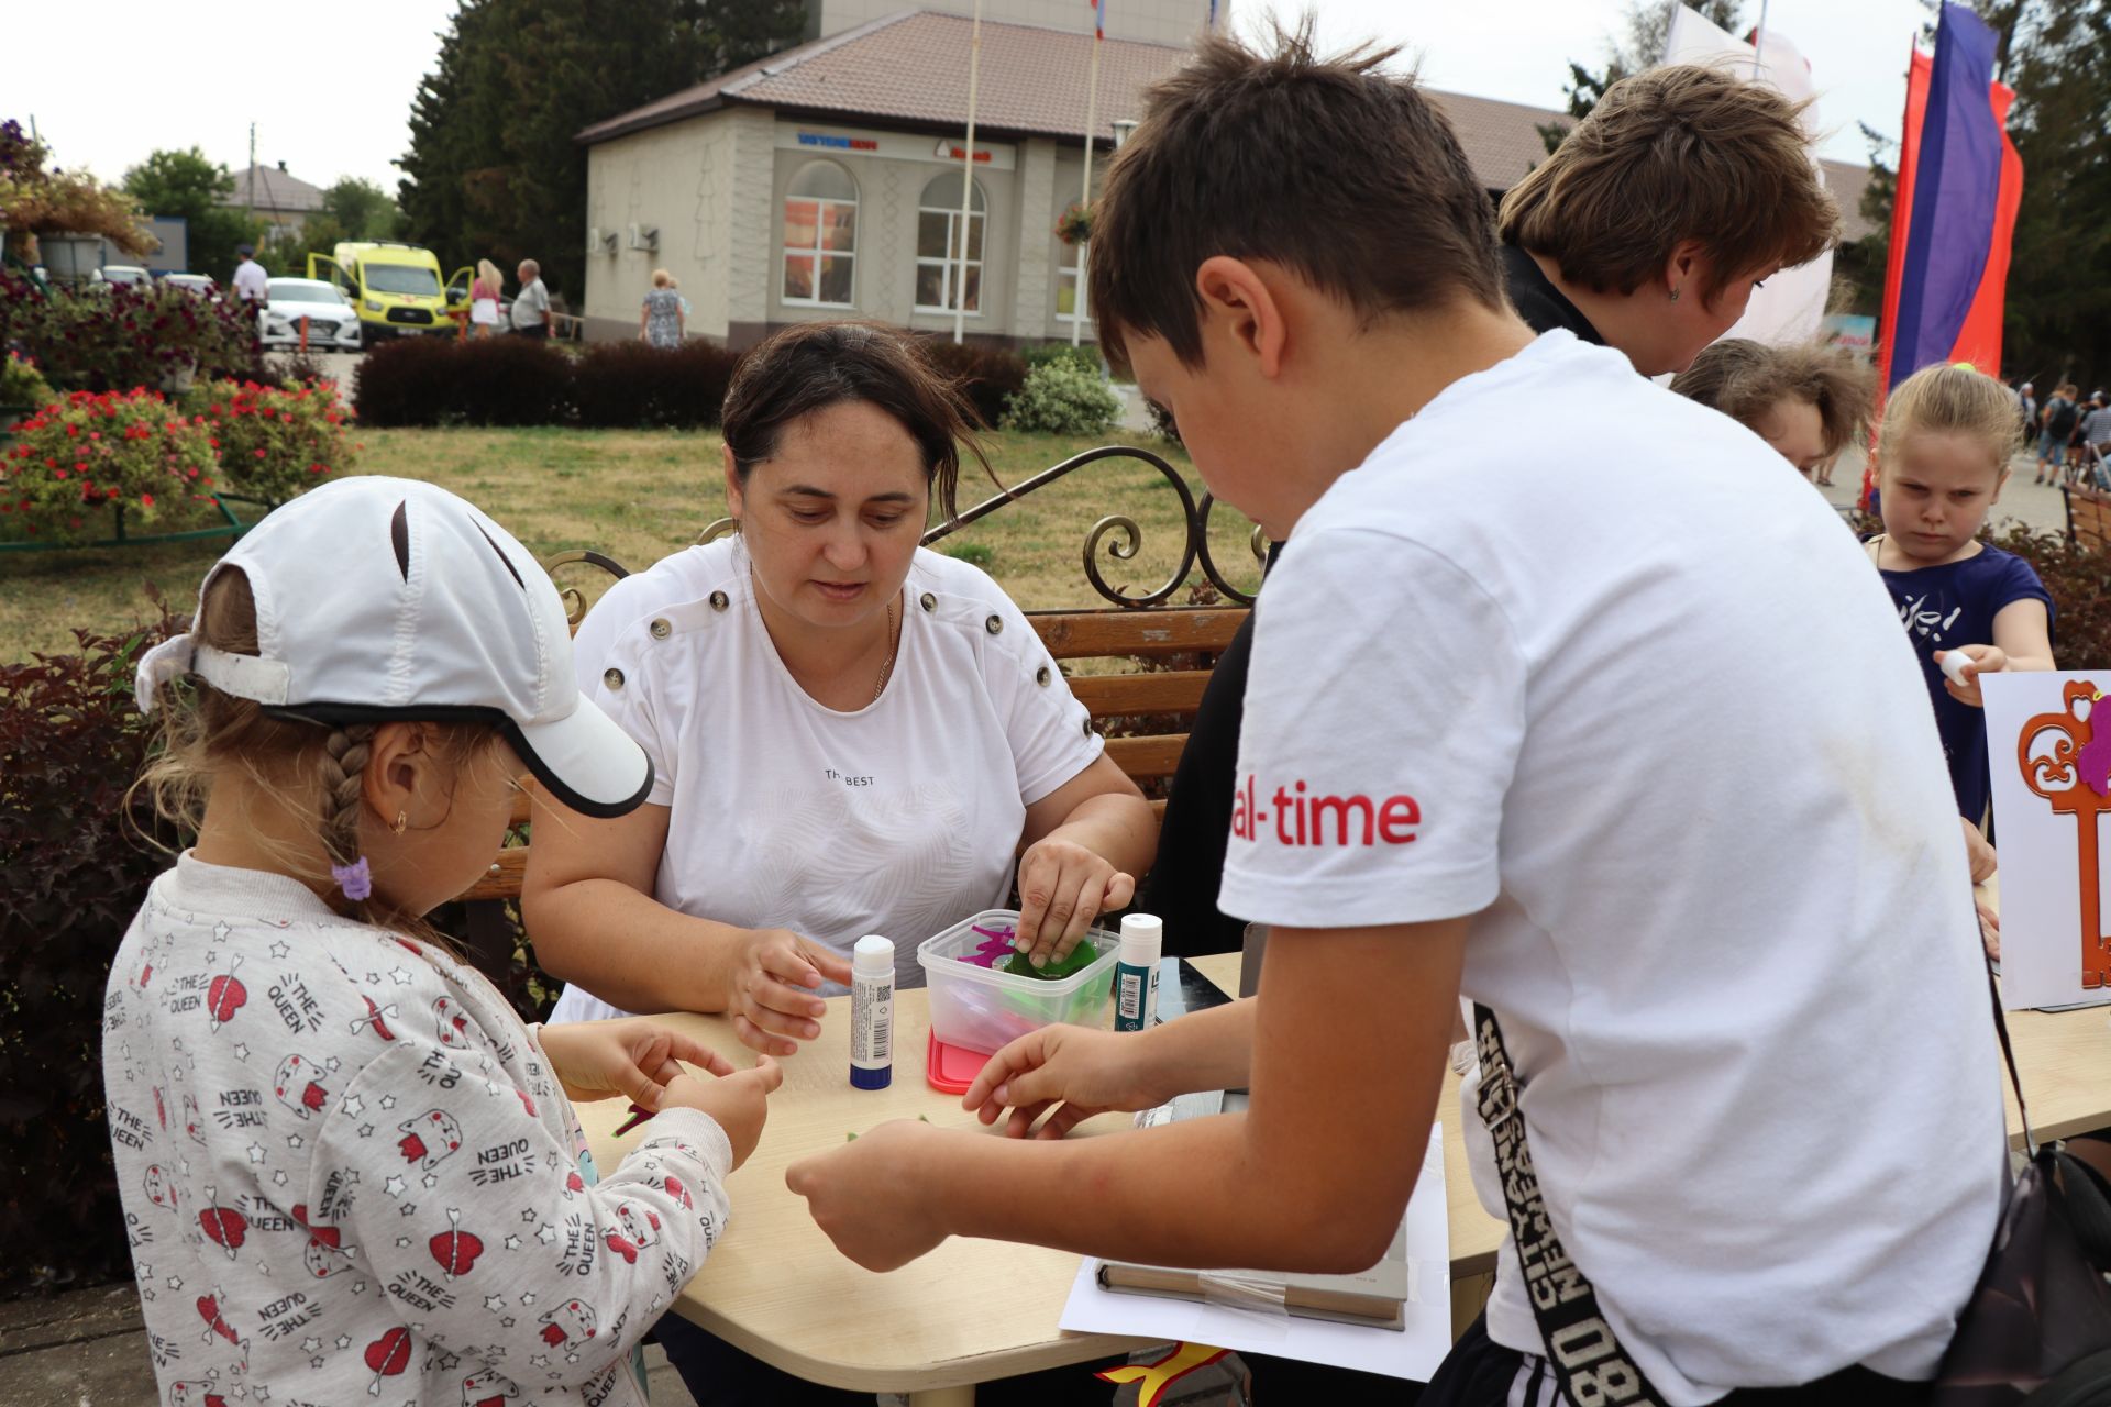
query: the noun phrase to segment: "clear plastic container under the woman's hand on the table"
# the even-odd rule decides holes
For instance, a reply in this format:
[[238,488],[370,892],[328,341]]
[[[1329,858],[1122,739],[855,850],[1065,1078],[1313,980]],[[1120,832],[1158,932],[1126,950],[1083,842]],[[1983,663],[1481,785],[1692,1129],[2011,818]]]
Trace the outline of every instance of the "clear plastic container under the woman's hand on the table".
[[1083,939],[1100,956],[1056,981],[961,962],[992,943],[988,930],[1003,932],[1018,922],[1018,909],[986,909],[916,945],[931,989],[931,1029],[948,1046],[992,1053],[1043,1025],[1106,1025],[1121,939],[1104,928]]

